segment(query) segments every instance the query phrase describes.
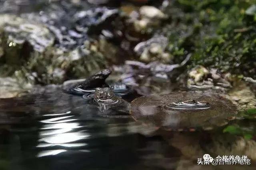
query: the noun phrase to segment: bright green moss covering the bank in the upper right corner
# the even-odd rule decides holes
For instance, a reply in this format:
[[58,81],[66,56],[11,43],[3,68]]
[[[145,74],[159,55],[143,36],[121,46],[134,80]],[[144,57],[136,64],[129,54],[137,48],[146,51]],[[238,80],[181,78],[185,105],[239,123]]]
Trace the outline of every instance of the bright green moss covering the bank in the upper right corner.
[[255,14],[253,10],[246,14],[254,3],[178,0],[170,4],[166,12],[172,20],[161,29],[169,37],[169,52],[180,61],[192,53],[188,67],[200,64],[256,78]]

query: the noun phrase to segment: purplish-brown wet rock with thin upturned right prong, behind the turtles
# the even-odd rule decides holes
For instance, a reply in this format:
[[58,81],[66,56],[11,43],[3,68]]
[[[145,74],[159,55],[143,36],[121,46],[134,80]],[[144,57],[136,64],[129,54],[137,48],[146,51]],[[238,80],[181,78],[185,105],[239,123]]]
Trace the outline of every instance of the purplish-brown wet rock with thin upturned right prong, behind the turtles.
[[116,74],[114,80],[120,80],[132,86],[138,94],[143,96],[152,93],[168,93],[177,85],[170,79],[170,74],[184,66],[190,56],[187,55],[180,64],[163,64],[158,61],[145,64],[139,61],[125,61],[123,66],[112,67],[113,74]]

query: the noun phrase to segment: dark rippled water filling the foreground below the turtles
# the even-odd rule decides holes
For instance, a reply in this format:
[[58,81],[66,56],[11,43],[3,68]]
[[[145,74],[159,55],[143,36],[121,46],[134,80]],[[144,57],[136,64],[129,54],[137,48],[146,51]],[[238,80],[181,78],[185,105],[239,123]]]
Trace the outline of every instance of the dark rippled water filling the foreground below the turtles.
[[[252,165],[197,165],[205,153],[255,158],[256,142],[214,131],[153,133],[132,117],[104,117],[80,96],[46,88],[0,100],[1,170],[254,169]],[[255,120],[231,121],[254,131]],[[244,130],[246,132],[246,130]],[[190,169],[189,168],[189,169]]]

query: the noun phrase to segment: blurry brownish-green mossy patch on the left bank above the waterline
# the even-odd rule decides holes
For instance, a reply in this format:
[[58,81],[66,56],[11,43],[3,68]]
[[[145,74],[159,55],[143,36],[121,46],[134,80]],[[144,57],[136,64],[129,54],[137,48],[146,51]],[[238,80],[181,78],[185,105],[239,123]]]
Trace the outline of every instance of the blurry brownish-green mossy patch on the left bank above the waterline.
[[[74,51],[78,51],[76,58]],[[44,53],[31,53],[26,64],[16,70],[15,76],[20,81],[25,80],[31,84],[60,84],[70,78],[89,76],[95,70],[106,67],[106,64],[100,53],[85,55],[79,48],[64,52],[50,47]]]

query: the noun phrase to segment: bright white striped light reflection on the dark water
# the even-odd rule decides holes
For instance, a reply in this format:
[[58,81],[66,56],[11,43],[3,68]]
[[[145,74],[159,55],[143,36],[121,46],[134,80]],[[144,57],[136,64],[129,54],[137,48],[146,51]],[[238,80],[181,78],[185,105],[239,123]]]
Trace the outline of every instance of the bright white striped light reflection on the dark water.
[[57,155],[61,152],[67,152],[71,148],[79,148],[81,151],[85,150],[83,147],[88,144],[80,140],[88,139],[90,134],[86,133],[85,130],[79,130],[85,126],[80,125],[78,122],[72,122],[78,119],[71,119],[71,117],[75,117],[71,111],[45,114],[43,116],[47,116],[49,119],[39,121],[44,124],[40,128],[39,143],[36,147],[42,149],[57,147],[60,149],[42,150],[38,153],[38,157]]

